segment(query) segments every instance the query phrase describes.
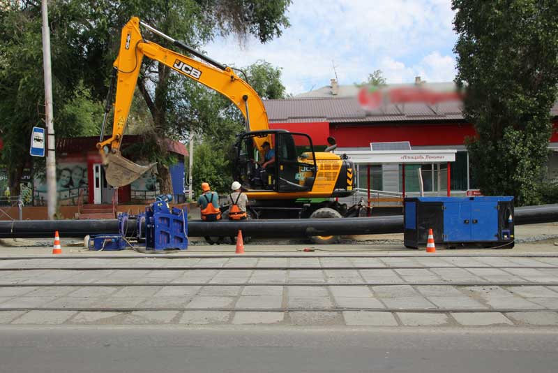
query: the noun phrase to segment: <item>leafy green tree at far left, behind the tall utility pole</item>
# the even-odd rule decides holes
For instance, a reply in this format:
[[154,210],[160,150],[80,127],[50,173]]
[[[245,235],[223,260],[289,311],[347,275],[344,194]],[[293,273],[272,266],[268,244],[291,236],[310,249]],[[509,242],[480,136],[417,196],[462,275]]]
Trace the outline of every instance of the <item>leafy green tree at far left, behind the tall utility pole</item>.
[[[71,23],[79,10],[73,3],[50,4],[52,89],[57,136],[90,134],[102,105],[84,86],[80,55],[75,53]],[[4,147],[0,162],[8,168],[10,189],[20,193],[20,178],[31,162],[31,128],[44,120],[43,52],[40,1],[11,2],[0,9],[0,123]],[[35,162],[40,169],[40,162]]]

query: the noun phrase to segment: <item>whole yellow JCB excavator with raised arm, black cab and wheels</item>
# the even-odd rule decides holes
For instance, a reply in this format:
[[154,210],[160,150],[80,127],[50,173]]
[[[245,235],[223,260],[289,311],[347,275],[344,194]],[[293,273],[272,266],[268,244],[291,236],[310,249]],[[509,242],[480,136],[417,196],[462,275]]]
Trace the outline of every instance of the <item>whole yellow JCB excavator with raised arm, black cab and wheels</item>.
[[[147,41],[142,37],[140,25],[204,62]],[[119,55],[114,61],[105,119],[100,142],[97,144],[109,184],[114,187],[130,184],[154,166],[137,165],[120,154],[126,120],[144,56],[223,94],[241,110],[245,118],[246,133],[237,136],[234,146],[233,177],[241,183],[248,195],[249,212],[253,219],[359,216],[362,204],[347,208],[347,205],[329,200],[354,193],[354,166],[347,157],[332,152],[315,152],[312,139],[304,133],[269,129],[261,98],[232,68],[174,40],[137,17],[131,18],[122,29]],[[112,136],[103,141],[114,80],[116,101]],[[328,149],[335,148],[335,140],[330,138],[329,141],[332,146]],[[265,169],[261,166],[264,161],[268,163]],[[317,202],[316,198],[322,199]],[[330,243],[335,242],[337,237],[316,236],[312,239],[317,243]]]

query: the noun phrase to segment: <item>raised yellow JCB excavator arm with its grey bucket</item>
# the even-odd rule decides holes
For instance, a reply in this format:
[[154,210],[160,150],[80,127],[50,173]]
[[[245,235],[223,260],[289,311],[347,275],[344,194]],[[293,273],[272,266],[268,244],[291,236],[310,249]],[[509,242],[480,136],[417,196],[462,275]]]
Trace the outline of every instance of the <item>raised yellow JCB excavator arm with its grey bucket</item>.
[[[144,40],[140,32],[140,24],[154,34],[158,34],[171,41],[174,45],[204,59],[207,63],[197,61],[151,41]],[[261,98],[259,98],[255,90],[247,82],[239,78],[232,71],[232,68],[213,61],[213,59],[192,50],[180,41],[176,41],[153,29],[148,24],[141,22],[139,18],[133,17],[122,29],[120,51],[116,61],[114,61],[114,69],[117,73],[112,136],[103,141],[105,127],[105,122],[103,122],[100,142],[97,144],[97,148],[101,156],[103,156],[103,163],[105,163],[107,182],[112,186],[119,187],[130,184],[130,182],[133,182],[154,166],[137,165],[123,158],[120,154],[123,133],[124,129],[126,129],[126,121],[144,56],[159,61],[174,71],[178,71],[182,75],[229,98],[244,115],[247,131],[269,129],[266,110]],[[265,140],[266,138],[257,138],[257,146],[261,147]]]

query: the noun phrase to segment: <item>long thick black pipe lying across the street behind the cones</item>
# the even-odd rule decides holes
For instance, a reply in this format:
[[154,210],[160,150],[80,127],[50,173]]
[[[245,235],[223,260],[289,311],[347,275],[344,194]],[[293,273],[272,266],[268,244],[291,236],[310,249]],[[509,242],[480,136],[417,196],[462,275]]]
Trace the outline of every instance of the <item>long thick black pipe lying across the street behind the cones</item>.
[[[558,204],[518,207],[515,224],[536,224],[558,221]],[[130,219],[124,228],[127,235],[135,235],[137,221]],[[361,217],[346,219],[273,219],[250,221],[188,221],[188,235],[243,235],[252,237],[305,237],[308,235],[366,235],[402,233],[403,217]],[[0,238],[84,237],[100,233],[119,233],[119,221],[109,220],[24,220],[0,221]]]

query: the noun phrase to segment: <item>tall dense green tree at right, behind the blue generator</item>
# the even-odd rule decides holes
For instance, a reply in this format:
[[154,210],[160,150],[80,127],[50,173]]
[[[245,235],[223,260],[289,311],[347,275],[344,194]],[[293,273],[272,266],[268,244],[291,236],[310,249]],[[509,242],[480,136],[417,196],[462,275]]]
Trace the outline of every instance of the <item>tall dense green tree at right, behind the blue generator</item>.
[[488,195],[538,203],[548,158],[550,108],[558,85],[554,0],[453,0],[464,115],[477,136],[467,145],[473,175]]

